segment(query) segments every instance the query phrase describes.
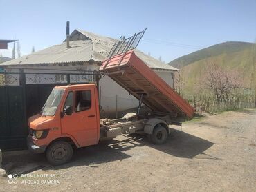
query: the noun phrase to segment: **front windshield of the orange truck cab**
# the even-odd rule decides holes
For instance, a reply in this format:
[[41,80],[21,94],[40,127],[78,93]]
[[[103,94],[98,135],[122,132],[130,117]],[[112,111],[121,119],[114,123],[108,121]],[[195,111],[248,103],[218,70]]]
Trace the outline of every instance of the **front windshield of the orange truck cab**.
[[62,99],[62,95],[64,90],[61,89],[53,89],[51,94],[49,95],[46,104],[42,109],[42,115],[53,116],[57,110],[57,106],[59,106],[60,101]]

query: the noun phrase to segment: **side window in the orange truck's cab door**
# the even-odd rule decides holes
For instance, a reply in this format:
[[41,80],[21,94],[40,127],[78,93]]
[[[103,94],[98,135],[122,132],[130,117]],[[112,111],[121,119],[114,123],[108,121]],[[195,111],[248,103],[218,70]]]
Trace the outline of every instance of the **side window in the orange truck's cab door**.
[[75,112],[91,108],[91,90],[79,90],[75,92]]

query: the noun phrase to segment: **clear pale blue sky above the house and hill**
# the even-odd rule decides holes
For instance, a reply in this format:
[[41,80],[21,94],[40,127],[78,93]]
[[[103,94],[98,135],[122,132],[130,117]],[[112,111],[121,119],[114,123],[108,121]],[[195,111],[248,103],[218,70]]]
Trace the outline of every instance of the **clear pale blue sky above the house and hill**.
[[[0,39],[19,39],[21,55],[66,39],[75,29],[119,39],[147,27],[138,49],[166,63],[226,41],[256,41],[255,0],[0,0]],[[3,57],[11,57],[0,50]]]

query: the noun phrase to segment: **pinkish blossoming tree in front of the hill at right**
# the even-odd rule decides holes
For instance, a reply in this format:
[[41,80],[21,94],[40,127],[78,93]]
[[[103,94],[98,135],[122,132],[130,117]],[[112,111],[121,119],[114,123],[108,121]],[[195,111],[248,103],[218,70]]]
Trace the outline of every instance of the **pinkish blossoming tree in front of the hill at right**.
[[227,101],[232,90],[241,88],[241,78],[237,71],[224,70],[214,62],[207,64],[201,83],[210,90],[218,102]]

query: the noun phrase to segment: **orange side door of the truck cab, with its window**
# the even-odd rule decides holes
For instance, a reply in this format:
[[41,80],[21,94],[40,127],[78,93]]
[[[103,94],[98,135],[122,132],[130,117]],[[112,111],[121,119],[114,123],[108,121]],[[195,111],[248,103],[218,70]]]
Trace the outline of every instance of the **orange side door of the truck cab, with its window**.
[[75,137],[80,146],[98,143],[98,119],[93,88],[68,93],[63,110],[72,106],[72,115],[61,119],[62,133]]

